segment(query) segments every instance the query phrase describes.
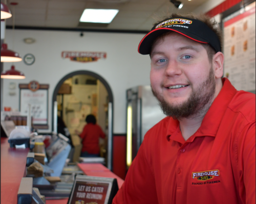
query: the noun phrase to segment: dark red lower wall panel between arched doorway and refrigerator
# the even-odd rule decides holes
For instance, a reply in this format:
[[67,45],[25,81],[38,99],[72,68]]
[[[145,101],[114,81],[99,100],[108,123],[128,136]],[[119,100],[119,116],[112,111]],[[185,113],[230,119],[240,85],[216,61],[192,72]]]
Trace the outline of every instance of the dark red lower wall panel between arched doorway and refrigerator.
[[126,136],[113,136],[113,173],[126,176]]

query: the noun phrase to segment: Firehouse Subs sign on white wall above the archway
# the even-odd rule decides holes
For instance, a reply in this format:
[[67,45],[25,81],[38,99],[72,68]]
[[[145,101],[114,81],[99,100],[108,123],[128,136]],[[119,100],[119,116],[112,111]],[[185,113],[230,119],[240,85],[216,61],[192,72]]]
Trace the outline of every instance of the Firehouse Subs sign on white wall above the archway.
[[71,61],[76,62],[96,62],[98,59],[106,59],[105,52],[73,52],[63,51],[61,53],[63,59],[70,58]]

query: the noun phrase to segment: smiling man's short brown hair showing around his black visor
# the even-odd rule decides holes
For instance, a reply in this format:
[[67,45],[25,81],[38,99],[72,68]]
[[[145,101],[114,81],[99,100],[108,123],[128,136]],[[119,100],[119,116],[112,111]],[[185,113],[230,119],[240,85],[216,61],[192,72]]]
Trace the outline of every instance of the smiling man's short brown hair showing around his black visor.
[[[161,20],[159,20],[158,22],[156,22],[154,24],[154,26],[156,26],[157,24],[159,24],[160,22],[162,22],[164,19],[167,19],[167,18],[191,18],[191,19],[197,19],[197,20],[200,20],[202,22],[204,22],[218,37],[218,39],[220,40],[220,43],[221,43],[221,49],[222,49],[222,32],[220,30],[220,28],[217,26],[217,21],[214,19],[211,19],[209,16],[205,15],[205,14],[200,14],[200,15],[194,15],[194,14],[191,14],[191,13],[187,13],[187,14],[178,14],[178,13],[173,13],[169,16],[165,16],[164,18],[162,18]],[[158,41],[158,39],[163,39],[166,35],[168,35],[169,33],[173,33],[174,31],[170,31],[170,32],[167,32],[167,33],[163,33],[161,35],[159,35],[152,43],[152,46],[151,46],[151,52],[152,52],[152,49],[155,45],[155,43]],[[208,56],[208,59],[209,59],[209,62],[211,63],[212,62],[212,57],[216,54],[216,51],[214,48],[212,48],[211,45],[209,45],[208,43],[205,44],[205,43],[201,43],[203,45],[203,47],[206,49],[206,52],[207,52],[207,56]],[[151,53],[150,52],[150,53]],[[151,55],[151,54],[150,54]]]

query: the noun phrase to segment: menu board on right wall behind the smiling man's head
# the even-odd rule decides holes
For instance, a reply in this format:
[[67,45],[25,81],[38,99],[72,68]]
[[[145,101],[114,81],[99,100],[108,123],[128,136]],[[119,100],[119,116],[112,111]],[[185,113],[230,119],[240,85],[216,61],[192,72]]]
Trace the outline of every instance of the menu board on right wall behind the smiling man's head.
[[[248,7],[247,7],[248,8]],[[237,90],[255,90],[255,2],[223,19],[224,77]]]

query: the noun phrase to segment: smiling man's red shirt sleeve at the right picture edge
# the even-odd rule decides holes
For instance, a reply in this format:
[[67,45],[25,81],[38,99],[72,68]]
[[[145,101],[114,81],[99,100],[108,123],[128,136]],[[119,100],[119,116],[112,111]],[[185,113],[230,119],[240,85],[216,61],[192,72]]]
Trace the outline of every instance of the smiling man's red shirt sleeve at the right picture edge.
[[246,204],[255,203],[255,121],[238,138],[239,193]]

